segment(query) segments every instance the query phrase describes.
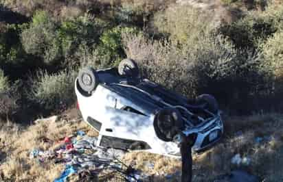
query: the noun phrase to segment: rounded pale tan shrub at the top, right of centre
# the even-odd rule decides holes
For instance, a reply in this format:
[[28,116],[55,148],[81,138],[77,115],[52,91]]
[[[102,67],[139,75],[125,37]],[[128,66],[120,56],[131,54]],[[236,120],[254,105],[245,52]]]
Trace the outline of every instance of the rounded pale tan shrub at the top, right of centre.
[[194,43],[205,36],[214,27],[212,14],[201,12],[189,6],[174,5],[163,12],[157,12],[153,24],[170,40],[177,43]]

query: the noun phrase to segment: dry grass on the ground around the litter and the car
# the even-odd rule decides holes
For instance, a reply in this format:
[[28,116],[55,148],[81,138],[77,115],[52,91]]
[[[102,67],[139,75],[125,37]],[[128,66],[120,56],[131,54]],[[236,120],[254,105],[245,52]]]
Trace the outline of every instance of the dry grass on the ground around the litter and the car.
[[[63,171],[63,165],[51,161],[38,163],[29,159],[32,148],[47,150],[56,147],[56,141],[78,130],[88,135],[97,135],[84,122],[72,119],[72,114],[63,114],[57,122],[45,120],[24,129],[11,122],[0,129],[0,174],[4,180],[53,181]],[[282,179],[283,116],[280,114],[255,115],[225,118],[226,133],[223,142],[203,154],[194,155],[193,181],[213,181],[238,166],[231,165],[231,157],[240,153],[250,157],[250,166],[241,166],[265,181]],[[242,135],[235,135],[242,131]],[[258,136],[271,136],[269,142],[256,144]],[[44,142],[48,138],[50,142]],[[151,153],[127,153],[123,161],[150,176],[149,181],[178,181],[181,161]],[[176,174],[166,179],[166,174]],[[76,180],[75,180],[76,181]]]

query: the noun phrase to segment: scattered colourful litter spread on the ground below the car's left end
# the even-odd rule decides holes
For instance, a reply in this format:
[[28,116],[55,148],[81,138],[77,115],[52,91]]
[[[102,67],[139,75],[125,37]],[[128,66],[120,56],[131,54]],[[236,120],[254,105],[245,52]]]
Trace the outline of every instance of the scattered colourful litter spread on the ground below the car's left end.
[[120,174],[128,181],[138,181],[146,177],[120,161],[124,151],[100,148],[96,146],[97,140],[96,137],[89,137],[83,131],[78,131],[76,135],[65,137],[57,142],[60,146],[53,151],[41,151],[34,148],[30,152],[30,159],[38,159],[41,163],[52,160],[54,164],[64,164],[65,170],[54,182],[67,181],[74,175],[78,176],[79,181],[88,175],[95,178],[102,170],[111,174]]

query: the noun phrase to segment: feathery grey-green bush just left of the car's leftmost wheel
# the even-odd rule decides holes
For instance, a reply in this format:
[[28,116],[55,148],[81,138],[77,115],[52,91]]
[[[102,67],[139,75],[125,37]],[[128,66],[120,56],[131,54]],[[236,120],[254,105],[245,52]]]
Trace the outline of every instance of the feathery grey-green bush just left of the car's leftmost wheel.
[[40,71],[32,80],[28,97],[44,109],[63,109],[75,101],[73,90],[75,78],[74,71],[60,71],[53,75]]

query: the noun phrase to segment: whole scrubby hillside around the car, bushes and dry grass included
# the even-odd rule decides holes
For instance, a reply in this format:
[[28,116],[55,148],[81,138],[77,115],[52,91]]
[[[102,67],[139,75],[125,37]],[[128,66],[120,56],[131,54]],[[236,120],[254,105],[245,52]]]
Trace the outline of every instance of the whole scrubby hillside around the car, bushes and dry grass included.
[[[226,115],[223,141],[194,154],[193,181],[227,181],[238,169],[283,181],[282,16],[281,0],[0,0],[0,181],[59,177],[65,163],[30,153],[52,151],[78,131],[95,137],[69,110],[74,79],[84,66],[125,58],[173,92],[214,95]],[[148,181],[181,175],[178,159],[122,160]]]

